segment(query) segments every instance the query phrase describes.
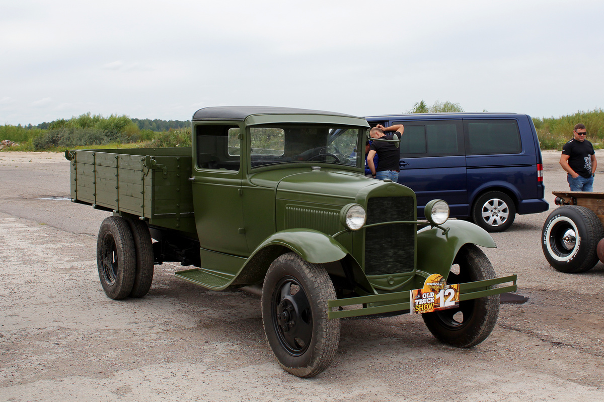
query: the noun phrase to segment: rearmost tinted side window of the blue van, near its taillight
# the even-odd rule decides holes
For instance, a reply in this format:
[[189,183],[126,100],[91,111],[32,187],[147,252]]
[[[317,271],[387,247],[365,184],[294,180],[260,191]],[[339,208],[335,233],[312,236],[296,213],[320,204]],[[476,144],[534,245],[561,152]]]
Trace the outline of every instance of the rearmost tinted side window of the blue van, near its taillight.
[[515,120],[468,120],[468,155],[518,154],[522,152]]

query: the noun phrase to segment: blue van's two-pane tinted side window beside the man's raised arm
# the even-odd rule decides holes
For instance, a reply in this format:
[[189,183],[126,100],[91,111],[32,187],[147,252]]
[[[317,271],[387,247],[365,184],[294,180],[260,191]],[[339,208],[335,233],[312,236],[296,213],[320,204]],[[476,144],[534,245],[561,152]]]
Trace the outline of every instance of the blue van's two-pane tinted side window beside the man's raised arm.
[[457,122],[394,122],[403,124],[400,154],[408,156],[459,155],[463,152],[461,123]]

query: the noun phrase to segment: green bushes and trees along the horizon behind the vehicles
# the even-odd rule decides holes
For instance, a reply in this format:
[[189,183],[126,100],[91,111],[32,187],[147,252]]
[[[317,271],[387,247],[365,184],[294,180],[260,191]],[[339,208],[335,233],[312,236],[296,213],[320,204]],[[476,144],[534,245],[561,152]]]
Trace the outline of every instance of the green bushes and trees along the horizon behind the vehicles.
[[[406,113],[442,113],[463,111],[455,102],[428,105],[415,102]],[[486,111],[486,110],[483,110]],[[541,149],[562,149],[577,123],[585,124],[588,139],[596,148],[604,148],[604,110],[577,111],[559,118],[533,118]],[[84,113],[71,119],[57,119],[38,125],[0,126],[0,140],[19,143],[17,151],[60,151],[81,146],[190,146],[191,121],[132,119],[126,115]]]

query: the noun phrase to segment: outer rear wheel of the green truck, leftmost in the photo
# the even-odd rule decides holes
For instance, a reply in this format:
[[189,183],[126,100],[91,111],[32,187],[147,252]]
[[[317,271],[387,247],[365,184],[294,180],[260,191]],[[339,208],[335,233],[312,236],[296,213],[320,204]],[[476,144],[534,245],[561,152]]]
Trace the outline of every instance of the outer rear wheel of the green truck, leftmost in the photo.
[[98,277],[105,294],[114,300],[132,291],[136,272],[136,253],[130,227],[120,216],[105,218],[98,230]]

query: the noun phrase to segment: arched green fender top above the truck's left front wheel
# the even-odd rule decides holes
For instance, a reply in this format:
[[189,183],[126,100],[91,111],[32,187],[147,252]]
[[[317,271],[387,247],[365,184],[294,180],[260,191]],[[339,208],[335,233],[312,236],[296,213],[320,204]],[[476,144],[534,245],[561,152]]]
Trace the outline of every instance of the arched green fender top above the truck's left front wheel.
[[[343,259],[348,251],[332,236],[312,229],[281,230],[267,237],[257,248],[262,250],[279,245],[294,251],[298,256],[313,264],[324,264]],[[254,254],[256,253],[254,251]]]

